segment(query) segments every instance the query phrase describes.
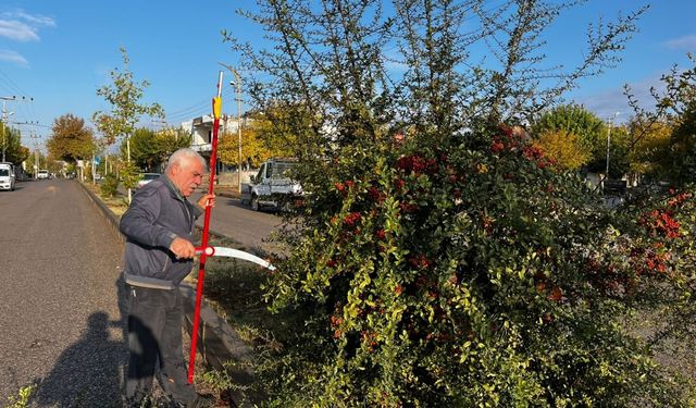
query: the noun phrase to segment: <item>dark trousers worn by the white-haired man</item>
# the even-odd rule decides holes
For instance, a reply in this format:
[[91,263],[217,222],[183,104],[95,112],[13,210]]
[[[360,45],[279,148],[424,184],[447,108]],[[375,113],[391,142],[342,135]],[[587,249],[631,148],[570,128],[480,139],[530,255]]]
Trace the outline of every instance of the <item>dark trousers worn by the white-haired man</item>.
[[126,399],[138,403],[152,391],[157,375],[164,392],[177,403],[196,399],[188,384],[182,346],[182,295],[172,290],[127,286],[128,371]]

